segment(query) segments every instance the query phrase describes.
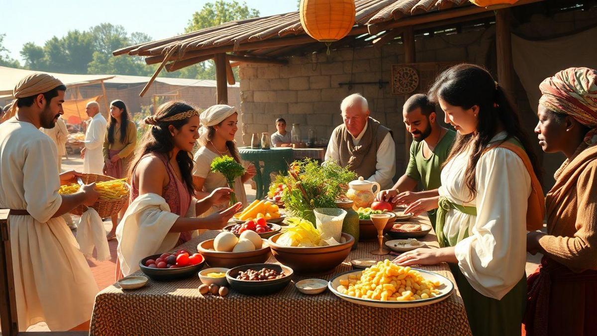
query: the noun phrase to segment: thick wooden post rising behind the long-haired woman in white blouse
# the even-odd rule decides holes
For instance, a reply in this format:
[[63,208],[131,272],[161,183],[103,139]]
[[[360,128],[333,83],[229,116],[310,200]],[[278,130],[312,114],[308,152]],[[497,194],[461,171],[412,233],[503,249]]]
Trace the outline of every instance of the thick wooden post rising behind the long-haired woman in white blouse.
[[510,8],[496,11],[497,82],[510,99],[514,99],[514,66],[510,36]]

